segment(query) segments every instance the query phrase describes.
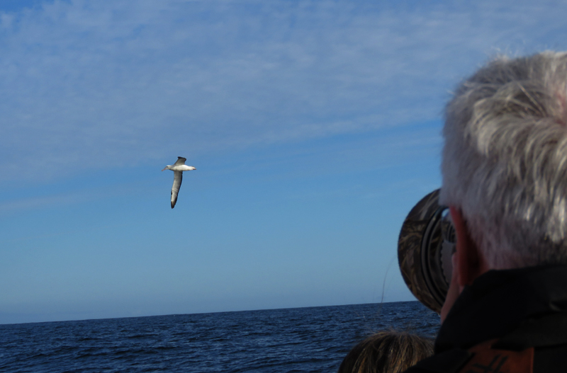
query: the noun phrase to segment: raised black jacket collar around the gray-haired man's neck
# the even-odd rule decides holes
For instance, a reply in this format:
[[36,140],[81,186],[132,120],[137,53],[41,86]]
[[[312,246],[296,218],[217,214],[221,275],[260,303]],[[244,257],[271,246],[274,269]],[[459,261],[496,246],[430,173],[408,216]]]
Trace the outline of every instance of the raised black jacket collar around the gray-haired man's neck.
[[471,348],[525,319],[566,312],[567,265],[490,270],[465,287],[435,340],[435,352]]

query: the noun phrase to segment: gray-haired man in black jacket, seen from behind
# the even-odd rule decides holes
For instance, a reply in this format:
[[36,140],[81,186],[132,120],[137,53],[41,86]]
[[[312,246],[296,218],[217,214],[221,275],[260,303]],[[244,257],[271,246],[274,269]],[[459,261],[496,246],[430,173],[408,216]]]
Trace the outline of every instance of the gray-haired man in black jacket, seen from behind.
[[436,355],[408,372],[567,372],[567,54],[479,69],[443,134],[453,272]]

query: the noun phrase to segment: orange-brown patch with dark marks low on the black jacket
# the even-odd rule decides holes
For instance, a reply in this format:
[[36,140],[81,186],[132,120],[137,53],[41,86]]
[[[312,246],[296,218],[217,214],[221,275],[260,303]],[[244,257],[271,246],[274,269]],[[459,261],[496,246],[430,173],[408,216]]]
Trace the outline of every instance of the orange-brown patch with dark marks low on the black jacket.
[[533,373],[534,348],[526,348],[520,352],[495,350],[489,340],[469,348],[473,357],[459,370],[459,373]]

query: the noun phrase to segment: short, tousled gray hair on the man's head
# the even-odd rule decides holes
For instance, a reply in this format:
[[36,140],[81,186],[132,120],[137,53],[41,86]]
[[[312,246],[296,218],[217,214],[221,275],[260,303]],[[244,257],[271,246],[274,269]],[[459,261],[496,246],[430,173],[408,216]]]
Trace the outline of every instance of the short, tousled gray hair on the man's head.
[[567,263],[567,53],[498,57],[448,103],[440,202],[491,268]]

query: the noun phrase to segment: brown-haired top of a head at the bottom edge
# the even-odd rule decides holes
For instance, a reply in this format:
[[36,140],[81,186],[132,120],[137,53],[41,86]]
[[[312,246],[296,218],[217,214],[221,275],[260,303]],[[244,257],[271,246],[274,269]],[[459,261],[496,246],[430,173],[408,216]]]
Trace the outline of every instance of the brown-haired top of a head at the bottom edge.
[[433,340],[410,333],[381,331],[358,343],[338,373],[401,373],[433,355]]

